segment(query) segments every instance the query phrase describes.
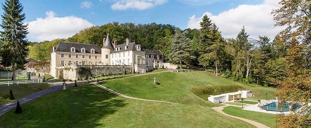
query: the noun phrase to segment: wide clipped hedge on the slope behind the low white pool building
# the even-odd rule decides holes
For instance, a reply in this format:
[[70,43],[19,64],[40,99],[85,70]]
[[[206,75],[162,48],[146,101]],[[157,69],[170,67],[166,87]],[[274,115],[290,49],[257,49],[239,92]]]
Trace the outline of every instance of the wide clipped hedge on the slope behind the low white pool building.
[[191,91],[197,96],[208,100],[210,95],[219,95],[224,93],[232,93],[239,90],[244,90],[244,87],[239,85],[218,85],[192,88]]

